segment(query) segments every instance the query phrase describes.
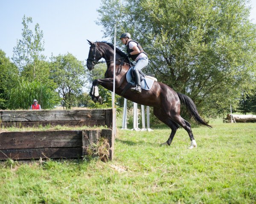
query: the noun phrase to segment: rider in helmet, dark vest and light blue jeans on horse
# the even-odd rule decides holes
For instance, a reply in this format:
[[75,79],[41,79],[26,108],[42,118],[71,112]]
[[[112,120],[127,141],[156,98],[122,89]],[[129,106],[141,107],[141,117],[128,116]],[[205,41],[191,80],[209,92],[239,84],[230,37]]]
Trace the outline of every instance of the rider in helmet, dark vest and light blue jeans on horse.
[[143,48],[141,47],[139,42],[131,40],[131,34],[123,33],[120,37],[120,40],[122,40],[122,43],[126,45],[128,57],[131,57],[131,59],[136,62],[136,65],[132,67],[136,86],[131,88],[131,91],[140,94],[141,86],[139,71],[148,65],[148,55],[145,53],[145,51],[143,51]]

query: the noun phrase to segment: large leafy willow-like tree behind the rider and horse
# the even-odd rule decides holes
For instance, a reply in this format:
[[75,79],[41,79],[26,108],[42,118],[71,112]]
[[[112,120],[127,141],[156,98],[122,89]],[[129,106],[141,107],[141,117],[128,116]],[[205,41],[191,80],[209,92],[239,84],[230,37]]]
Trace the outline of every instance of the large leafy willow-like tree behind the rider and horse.
[[[102,0],[104,37],[130,32],[149,55],[145,72],[215,116],[255,87],[256,26],[246,0]],[[121,42],[119,42],[121,46]],[[123,46],[122,46],[123,47]]]

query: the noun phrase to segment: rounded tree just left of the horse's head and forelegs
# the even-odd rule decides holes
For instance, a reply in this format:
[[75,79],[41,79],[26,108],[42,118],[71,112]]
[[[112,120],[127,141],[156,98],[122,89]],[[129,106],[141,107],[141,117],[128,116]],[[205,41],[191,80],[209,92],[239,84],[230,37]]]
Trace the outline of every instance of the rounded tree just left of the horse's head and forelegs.
[[58,93],[63,98],[64,106],[70,109],[76,105],[84,85],[84,65],[72,54],[58,55],[51,58],[51,77],[57,84]]

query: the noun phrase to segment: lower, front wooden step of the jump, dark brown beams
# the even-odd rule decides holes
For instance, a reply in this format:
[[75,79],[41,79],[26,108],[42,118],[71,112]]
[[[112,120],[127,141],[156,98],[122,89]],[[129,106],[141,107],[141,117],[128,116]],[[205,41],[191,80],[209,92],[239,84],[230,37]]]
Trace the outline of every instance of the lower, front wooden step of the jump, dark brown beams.
[[0,132],[0,160],[82,158],[101,138],[108,142],[107,159],[113,159],[111,129]]

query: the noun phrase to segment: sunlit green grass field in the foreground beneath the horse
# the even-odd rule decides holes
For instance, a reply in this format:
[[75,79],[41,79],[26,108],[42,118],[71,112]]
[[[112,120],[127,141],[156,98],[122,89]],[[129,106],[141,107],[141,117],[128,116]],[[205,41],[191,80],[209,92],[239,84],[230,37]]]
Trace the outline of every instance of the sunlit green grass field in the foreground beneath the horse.
[[118,130],[115,158],[0,164],[0,203],[256,203],[256,123]]

